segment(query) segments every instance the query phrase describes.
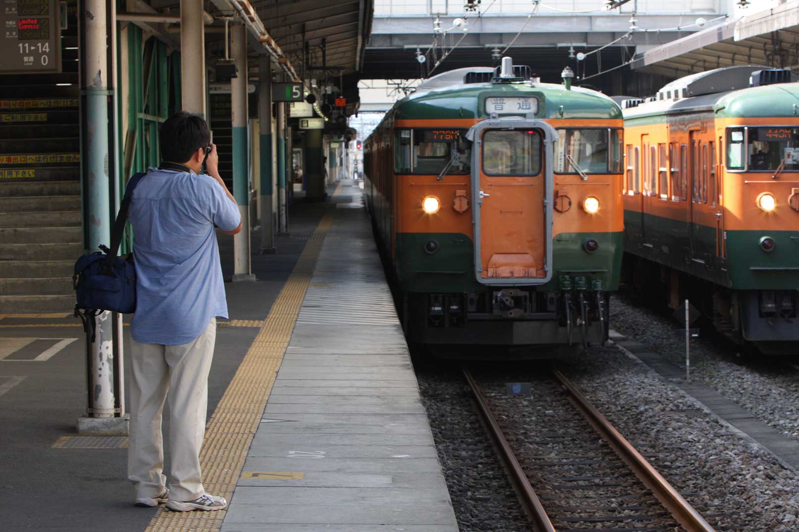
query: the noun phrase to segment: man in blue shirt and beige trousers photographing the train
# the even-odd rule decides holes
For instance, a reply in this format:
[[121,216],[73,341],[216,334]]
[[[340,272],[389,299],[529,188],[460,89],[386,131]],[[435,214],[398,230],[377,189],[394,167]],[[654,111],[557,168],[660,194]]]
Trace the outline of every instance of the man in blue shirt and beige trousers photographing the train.
[[[205,120],[178,112],[160,137],[164,162],[141,179],[129,211],[137,305],[130,323],[128,478],[137,506],[221,510],[228,502],[205,493],[199,458],[217,316],[228,317],[214,226],[237,234],[241,219]],[[204,161],[208,175],[200,174]],[[161,436],[167,392],[169,490]]]

